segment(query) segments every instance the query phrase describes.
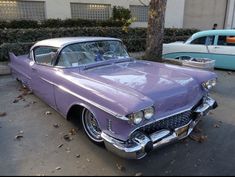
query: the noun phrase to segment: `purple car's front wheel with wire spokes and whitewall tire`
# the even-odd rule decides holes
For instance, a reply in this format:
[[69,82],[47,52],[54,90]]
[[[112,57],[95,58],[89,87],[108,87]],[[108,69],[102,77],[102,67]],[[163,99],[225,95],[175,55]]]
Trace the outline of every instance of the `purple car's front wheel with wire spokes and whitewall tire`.
[[86,132],[86,135],[95,143],[103,144],[101,137],[101,129],[94,114],[88,109],[84,109],[82,113],[82,125]]

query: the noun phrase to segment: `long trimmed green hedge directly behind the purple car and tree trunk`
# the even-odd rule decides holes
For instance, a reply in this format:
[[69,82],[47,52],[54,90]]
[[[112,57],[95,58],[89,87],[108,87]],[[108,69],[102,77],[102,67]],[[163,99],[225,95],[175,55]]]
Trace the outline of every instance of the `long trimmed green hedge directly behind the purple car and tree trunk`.
[[[72,24],[67,21],[67,24]],[[185,41],[197,30],[166,29],[164,43]],[[16,55],[28,53],[33,43],[49,38],[102,36],[123,40],[129,52],[140,52],[146,48],[146,28],[129,28],[124,31],[120,27],[92,27],[92,28],[39,28],[39,29],[3,29],[0,30],[0,60],[8,59],[8,52]]]

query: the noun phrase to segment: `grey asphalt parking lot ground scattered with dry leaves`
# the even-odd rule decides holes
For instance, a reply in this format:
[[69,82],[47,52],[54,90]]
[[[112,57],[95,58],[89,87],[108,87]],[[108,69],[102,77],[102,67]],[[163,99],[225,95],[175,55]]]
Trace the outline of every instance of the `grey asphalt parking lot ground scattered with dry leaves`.
[[[1,76],[0,175],[235,175],[235,73],[216,72],[212,96],[219,107],[199,125],[206,141],[186,139],[139,161],[94,145],[34,95],[13,103],[20,84]],[[74,135],[66,141],[69,132]]]

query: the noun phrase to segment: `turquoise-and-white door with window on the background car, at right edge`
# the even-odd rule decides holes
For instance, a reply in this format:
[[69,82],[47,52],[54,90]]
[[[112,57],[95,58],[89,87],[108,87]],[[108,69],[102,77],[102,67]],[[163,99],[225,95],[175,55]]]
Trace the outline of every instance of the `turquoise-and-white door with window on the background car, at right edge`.
[[235,36],[217,36],[216,45],[209,50],[211,58],[216,61],[216,67],[235,69]]

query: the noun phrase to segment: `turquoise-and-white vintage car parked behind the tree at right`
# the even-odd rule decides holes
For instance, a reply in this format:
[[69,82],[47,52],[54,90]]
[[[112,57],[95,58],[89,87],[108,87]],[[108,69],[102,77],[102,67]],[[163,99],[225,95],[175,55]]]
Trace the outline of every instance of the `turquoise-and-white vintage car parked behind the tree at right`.
[[235,30],[210,30],[194,34],[186,42],[164,44],[163,58],[209,58],[215,67],[235,70]]

